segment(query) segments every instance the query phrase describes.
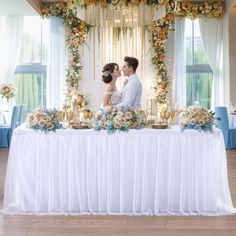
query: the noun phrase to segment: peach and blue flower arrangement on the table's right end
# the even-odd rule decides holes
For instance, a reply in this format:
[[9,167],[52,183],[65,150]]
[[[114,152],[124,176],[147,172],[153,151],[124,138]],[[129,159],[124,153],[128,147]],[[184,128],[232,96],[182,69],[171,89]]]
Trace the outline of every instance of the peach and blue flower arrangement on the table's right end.
[[214,113],[200,106],[190,106],[179,114],[179,125],[182,131],[195,129],[212,132],[214,120]]

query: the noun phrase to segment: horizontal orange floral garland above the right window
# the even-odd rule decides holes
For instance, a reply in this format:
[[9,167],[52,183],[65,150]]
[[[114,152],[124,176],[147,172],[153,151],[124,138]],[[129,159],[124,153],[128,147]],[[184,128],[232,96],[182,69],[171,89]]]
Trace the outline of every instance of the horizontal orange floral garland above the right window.
[[224,5],[222,1],[190,2],[183,1],[177,3],[176,17],[200,17],[222,19],[224,16]]

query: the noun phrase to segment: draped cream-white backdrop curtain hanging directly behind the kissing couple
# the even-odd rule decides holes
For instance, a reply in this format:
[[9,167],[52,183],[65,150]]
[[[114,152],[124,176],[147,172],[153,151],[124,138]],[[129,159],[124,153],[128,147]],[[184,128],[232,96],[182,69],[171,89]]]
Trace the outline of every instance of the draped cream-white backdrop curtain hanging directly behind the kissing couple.
[[[115,36],[116,34],[116,36]],[[117,37],[118,36],[118,37]],[[81,48],[83,62],[83,80],[80,85],[85,93],[89,94],[89,103],[92,110],[100,107],[105,84],[102,82],[101,71],[104,64],[116,62],[120,68],[125,56],[138,58],[137,74],[142,80],[142,107],[145,109],[151,85],[155,79],[155,70],[152,66],[150,35],[141,27],[132,30],[122,29],[118,35],[112,27],[93,27],[89,31],[86,43]],[[117,80],[117,88],[121,91],[124,77]]]

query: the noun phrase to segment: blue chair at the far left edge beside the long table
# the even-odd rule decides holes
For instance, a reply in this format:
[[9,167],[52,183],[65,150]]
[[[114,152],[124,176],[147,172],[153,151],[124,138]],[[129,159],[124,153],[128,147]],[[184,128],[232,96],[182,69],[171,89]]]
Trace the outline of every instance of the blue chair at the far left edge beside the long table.
[[13,130],[16,128],[18,119],[18,107],[14,106],[11,115],[10,125],[0,126],[0,148],[9,147]]

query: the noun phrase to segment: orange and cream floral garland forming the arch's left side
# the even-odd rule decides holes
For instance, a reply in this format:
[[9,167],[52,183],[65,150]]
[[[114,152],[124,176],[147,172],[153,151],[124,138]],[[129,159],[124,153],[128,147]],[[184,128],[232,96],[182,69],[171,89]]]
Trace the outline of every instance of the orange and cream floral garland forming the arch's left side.
[[67,8],[64,2],[43,3],[41,12],[42,17],[56,16],[61,18],[67,26],[68,36],[66,42],[72,56],[66,75],[69,95],[73,89],[79,89],[83,66],[81,65],[78,46],[85,42],[89,25],[77,18],[76,8]]

